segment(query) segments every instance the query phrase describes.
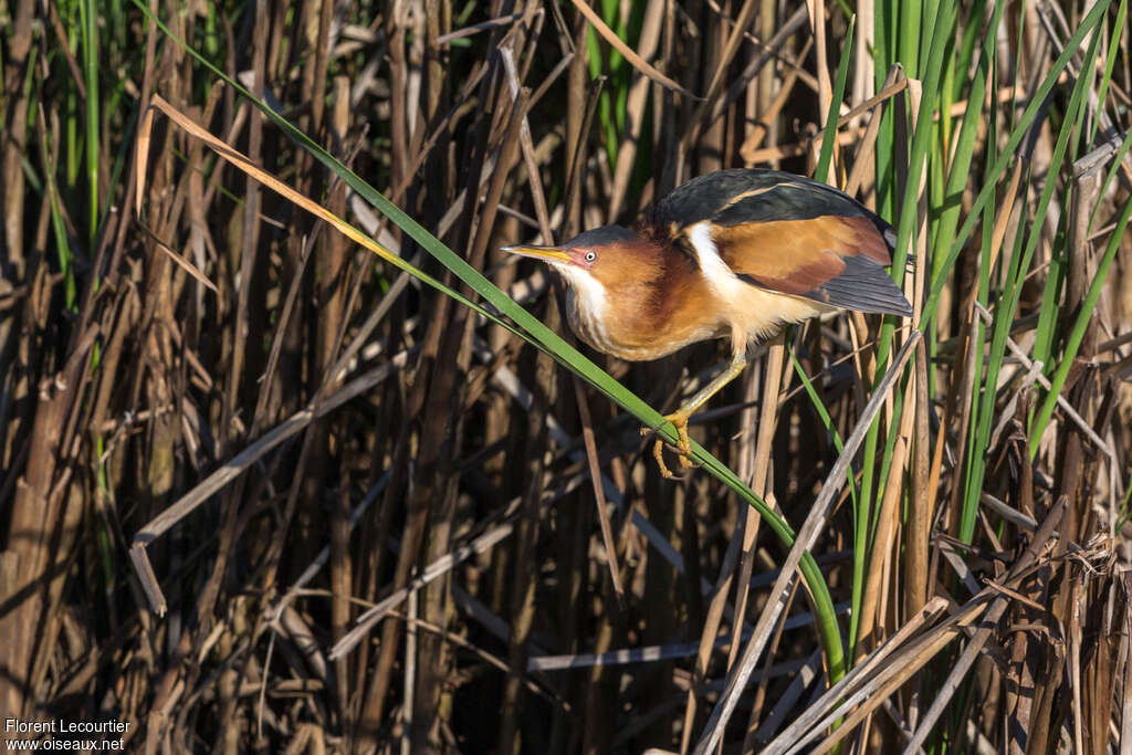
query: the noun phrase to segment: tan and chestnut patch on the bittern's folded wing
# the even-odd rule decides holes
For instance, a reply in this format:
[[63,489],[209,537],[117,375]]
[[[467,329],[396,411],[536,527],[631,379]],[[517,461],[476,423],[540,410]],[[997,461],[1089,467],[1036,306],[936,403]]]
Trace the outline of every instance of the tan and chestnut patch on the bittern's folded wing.
[[823,215],[717,228],[720,257],[736,275],[797,295],[808,295],[846,269],[846,257],[891,264],[889,247],[867,217]]

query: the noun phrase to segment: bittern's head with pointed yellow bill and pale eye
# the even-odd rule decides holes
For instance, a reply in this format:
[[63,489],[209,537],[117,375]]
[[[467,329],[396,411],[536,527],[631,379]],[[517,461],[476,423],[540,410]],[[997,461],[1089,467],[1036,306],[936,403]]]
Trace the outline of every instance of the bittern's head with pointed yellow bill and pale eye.
[[627,228],[603,225],[580,233],[560,247],[515,244],[504,247],[503,251],[541,259],[561,273],[583,298],[589,298],[594,284],[604,293],[653,278],[659,260],[650,254],[652,247]]

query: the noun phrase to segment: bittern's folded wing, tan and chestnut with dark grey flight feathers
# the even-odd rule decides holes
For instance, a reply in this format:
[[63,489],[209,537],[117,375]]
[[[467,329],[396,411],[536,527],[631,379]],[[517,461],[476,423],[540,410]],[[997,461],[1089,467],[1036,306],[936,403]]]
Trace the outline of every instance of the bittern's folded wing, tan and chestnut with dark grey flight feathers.
[[761,289],[864,312],[911,314],[884,269],[889,246],[868,217],[717,225],[712,240],[728,267]]

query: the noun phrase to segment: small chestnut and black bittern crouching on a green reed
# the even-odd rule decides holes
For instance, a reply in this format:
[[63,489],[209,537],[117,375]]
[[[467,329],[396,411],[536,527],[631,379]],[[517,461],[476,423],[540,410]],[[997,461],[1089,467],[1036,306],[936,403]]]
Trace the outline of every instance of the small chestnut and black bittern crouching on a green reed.
[[[748,344],[831,311],[911,316],[885,271],[895,241],[892,225],[829,185],[734,169],[677,187],[632,228],[603,225],[560,246],[501,250],[560,274],[566,319],[599,352],[649,361],[700,341],[730,342],[728,367],[664,418],[687,469],[688,420],[743,371]],[[660,473],[679,479],[662,451],[658,439]]]

